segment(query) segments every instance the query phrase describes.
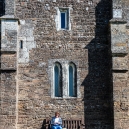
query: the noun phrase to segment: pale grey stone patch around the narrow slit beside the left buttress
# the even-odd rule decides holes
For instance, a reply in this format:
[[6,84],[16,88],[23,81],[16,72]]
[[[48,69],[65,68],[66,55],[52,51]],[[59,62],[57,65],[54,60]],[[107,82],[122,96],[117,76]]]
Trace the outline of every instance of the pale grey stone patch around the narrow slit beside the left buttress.
[[[20,29],[18,32],[18,62],[28,63],[29,62],[29,51],[32,48],[36,48],[34,41],[33,29],[35,23],[32,20],[20,20]],[[22,48],[21,48],[22,41]]]

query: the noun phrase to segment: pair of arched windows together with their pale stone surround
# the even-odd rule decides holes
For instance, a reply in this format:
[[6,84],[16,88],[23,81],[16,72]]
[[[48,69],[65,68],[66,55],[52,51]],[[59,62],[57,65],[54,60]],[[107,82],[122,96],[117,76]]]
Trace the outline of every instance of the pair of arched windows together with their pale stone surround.
[[51,59],[48,63],[51,98],[80,98],[78,62]]

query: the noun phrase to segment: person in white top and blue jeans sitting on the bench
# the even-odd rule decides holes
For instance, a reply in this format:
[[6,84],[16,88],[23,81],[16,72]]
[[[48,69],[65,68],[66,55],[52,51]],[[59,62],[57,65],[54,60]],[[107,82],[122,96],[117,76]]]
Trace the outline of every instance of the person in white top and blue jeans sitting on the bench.
[[59,112],[55,112],[55,116],[51,119],[51,129],[62,129],[62,119]]

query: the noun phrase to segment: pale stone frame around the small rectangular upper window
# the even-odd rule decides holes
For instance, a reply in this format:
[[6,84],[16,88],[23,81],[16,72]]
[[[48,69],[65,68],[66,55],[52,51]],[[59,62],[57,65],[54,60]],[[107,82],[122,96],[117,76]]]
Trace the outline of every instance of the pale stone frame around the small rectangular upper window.
[[[56,23],[56,29],[59,30],[71,30],[71,20],[70,20],[70,12],[72,10],[71,7],[55,7],[57,11],[57,15],[55,16],[55,23]],[[61,11],[65,10],[67,11],[67,27],[65,29],[61,28]]]

